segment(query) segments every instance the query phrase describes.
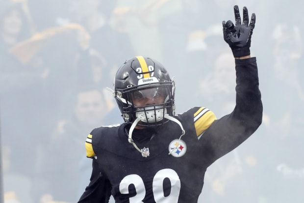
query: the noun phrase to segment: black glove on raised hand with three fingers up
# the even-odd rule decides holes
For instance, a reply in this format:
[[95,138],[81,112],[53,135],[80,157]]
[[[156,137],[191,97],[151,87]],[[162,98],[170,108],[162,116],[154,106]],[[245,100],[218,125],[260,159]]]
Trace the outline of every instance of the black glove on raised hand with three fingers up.
[[232,50],[234,58],[250,55],[251,36],[255,25],[255,14],[252,14],[250,24],[248,26],[248,10],[243,7],[243,24],[241,24],[241,16],[239,7],[234,6],[235,26],[229,20],[223,21],[224,40],[228,43]]

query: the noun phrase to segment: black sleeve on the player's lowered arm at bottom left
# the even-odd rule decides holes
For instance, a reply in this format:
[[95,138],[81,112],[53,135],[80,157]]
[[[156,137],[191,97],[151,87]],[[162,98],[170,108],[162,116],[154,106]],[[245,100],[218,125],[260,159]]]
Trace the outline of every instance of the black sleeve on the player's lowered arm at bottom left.
[[111,184],[101,174],[96,159],[92,162],[92,175],[78,203],[108,203],[111,196]]

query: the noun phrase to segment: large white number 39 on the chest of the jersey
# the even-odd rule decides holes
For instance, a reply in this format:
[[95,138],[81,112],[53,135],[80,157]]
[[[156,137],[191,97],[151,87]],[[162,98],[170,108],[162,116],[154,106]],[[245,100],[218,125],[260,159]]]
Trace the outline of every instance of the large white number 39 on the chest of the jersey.
[[[163,181],[168,178],[171,182],[171,192],[165,197]],[[121,194],[128,194],[128,186],[133,184],[136,195],[129,198],[130,203],[141,203],[146,196],[146,188],[143,179],[137,174],[127,175],[122,179],[119,190]],[[153,196],[156,203],[177,203],[180,190],[180,180],[177,173],[172,169],[162,169],[153,178]]]

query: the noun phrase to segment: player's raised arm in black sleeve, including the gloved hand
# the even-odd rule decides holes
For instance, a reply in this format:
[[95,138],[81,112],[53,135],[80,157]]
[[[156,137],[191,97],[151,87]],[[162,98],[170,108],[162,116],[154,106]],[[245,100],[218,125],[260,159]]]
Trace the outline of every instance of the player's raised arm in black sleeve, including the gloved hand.
[[236,105],[231,114],[215,120],[200,139],[210,156],[210,163],[244,142],[262,122],[263,108],[256,58],[250,58],[249,49],[255,15],[253,14],[248,26],[246,7],[243,9],[243,24],[240,22],[237,6],[234,7],[234,13],[236,26],[234,27],[231,21],[232,25],[223,22],[223,32],[224,39],[236,58]]

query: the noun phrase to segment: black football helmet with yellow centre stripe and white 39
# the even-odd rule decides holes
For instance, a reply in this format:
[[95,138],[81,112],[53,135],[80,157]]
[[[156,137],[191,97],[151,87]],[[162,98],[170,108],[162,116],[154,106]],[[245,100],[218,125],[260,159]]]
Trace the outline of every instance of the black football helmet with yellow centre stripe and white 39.
[[[144,94],[162,94],[165,101],[161,104],[135,106],[133,98]],[[128,123],[137,119],[142,121],[138,125],[155,126],[168,121],[166,117],[175,115],[174,95],[174,81],[163,65],[152,58],[138,56],[127,59],[116,73],[114,97]]]

